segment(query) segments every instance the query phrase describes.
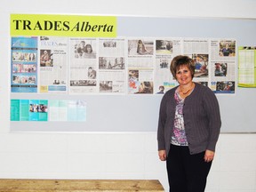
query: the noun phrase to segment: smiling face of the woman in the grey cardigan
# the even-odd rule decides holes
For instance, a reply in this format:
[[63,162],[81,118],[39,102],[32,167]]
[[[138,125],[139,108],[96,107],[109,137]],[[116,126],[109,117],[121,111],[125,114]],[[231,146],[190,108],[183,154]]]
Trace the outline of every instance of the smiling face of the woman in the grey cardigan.
[[176,71],[176,79],[179,84],[186,85],[192,82],[192,74],[189,68],[185,65],[180,66]]

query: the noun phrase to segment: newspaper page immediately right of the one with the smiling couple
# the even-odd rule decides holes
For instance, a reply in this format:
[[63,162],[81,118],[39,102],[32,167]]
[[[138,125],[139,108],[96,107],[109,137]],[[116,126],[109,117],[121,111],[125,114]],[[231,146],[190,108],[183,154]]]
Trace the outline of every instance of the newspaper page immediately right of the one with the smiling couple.
[[99,92],[100,94],[125,94],[126,70],[124,38],[99,41]]

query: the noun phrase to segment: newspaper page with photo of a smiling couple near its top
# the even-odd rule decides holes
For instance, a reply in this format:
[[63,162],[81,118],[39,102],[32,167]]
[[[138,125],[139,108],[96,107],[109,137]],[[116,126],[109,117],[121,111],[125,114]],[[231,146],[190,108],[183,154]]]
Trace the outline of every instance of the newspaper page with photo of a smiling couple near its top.
[[[68,92],[97,92],[99,87],[98,48],[95,38],[69,39]],[[68,48],[68,47],[67,47]]]

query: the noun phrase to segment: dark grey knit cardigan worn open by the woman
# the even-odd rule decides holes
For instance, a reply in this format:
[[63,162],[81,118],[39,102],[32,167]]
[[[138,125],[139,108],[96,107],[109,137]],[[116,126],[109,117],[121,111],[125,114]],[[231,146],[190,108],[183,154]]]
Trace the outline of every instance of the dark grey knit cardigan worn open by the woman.
[[[177,88],[178,86],[164,94],[159,111],[158,150],[166,150],[167,156],[176,108],[174,92]],[[215,151],[221,126],[220,108],[215,94],[209,87],[196,84],[194,91],[185,99],[183,117],[190,154],[197,154],[206,149]]]

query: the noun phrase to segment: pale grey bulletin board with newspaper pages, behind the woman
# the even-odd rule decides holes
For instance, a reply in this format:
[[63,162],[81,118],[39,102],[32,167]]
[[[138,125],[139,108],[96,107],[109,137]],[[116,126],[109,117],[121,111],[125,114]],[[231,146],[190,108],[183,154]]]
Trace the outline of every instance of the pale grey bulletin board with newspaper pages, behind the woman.
[[[252,41],[255,20],[116,19],[116,37],[11,36],[12,103],[47,101],[44,121],[12,118],[12,131],[156,132],[163,96],[159,94],[163,90],[159,89],[166,92],[177,85],[169,65],[175,55],[186,54],[198,61],[194,80],[211,87],[218,95],[223,119],[221,131],[256,132],[252,120],[243,120],[240,110],[248,109],[237,102],[246,97],[245,103],[255,104],[245,95],[255,90],[236,85],[236,47],[256,44]],[[250,29],[245,32],[247,36],[241,28]],[[38,46],[20,49],[13,43],[25,38],[33,39]],[[83,51],[86,44],[91,44],[90,54]],[[30,53],[34,53],[31,60]],[[48,59],[44,61],[46,56]],[[79,103],[76,108],[83,107],[84,118],[79,118],[82,121],[56,118],[56,111],[69,110],[56,105],[52,108],[51,104],[62,100],[76,100]]]

